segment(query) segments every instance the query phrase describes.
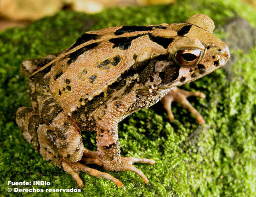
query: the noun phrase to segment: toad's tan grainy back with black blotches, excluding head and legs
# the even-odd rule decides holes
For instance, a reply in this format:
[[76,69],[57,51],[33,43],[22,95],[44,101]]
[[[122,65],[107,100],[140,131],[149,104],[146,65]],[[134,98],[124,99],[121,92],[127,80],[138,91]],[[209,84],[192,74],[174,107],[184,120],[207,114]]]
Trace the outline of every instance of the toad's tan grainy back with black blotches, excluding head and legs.
[[84,33],[43,68],[51,67],[45,75],[50,79],[50,91],[60,105],[63,103],[62,108],[73,112],[84,100],[92,100],[123,80],[121,74],[135,66],[138,56],[140,61],[148,60],[145,49],[153,48],[151,57],[166,54],[177,35],[175,29],[182,26],[120,26]]

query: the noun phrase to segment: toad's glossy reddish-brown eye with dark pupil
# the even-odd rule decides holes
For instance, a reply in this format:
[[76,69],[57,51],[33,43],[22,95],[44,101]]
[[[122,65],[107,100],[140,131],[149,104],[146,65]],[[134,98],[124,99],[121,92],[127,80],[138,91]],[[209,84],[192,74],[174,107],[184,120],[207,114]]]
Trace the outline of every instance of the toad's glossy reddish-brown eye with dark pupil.
[[185,49],[176,53],[176,60],[183,66],[193,66],[201,59],[201,56],[200,49]]

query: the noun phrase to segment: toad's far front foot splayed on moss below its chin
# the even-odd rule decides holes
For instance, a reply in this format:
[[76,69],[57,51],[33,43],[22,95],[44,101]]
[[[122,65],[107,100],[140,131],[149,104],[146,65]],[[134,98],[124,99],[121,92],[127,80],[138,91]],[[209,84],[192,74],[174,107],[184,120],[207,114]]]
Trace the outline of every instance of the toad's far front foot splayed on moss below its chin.
[[206,96],[202,92],[190,92],[181,90],[177,87],[173,88],[168,92],[166,96],[163,97],[161,102],[163,103],[164,108],[166,109],[168,113],[168,117],[170,122],[174,120],[174,115],[172,113],[172,102],[178,102],[180,103],[184,108],[189,109],[189,111],[194,114],[200,124],[204,124],[205,121],[203,117],[197,112],[197,110],[190,104],[189,101],[187,101],[187,97],[190,96],[198,96],[204,99]]

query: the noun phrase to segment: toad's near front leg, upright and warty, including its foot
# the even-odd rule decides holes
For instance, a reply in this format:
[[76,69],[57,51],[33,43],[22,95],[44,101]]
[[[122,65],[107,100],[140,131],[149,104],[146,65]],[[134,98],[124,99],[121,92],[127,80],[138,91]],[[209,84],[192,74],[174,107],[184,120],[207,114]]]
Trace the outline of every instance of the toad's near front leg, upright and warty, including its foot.
[[149,182],[142,171],[137,169],[133,163],[155,164],[153,159],[121,157],[120,141],[118,140],[118,121],[127,112],[129,100],[116,100],[108,105],[102,106],[94,115],[97,126],[97,150],[98,158],[105,170],[109,171],[133,171],[138,173],[146,183]]

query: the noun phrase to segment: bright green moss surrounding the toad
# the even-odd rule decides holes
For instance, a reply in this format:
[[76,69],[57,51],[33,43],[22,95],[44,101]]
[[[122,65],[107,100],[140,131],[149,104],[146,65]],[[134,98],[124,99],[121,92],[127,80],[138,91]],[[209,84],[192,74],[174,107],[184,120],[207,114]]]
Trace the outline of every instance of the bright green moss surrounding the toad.
[[[109,9],[96,15],[61,11],[25,28],[0,32],[0,176],[1,195],[8,193],[8,180],[49,181],[35,188],[77,188],[70,175],[43,160],[28,144],[15,124],[20,106],[30,106],[27,82],[19,72],[22,60],[56,53],[69,47],[88,29],[117,25],[182,22],[192,14],[209,15],[217,25],[218,37],[226,18],[239,13],[256,26],[255,11],[238,1],[179,1],[175,5]],[[239,57],[235,77],[226,79],[224,69],[186,84],[183,89],[203,91],[205,100],[190,101],[206,119],[198,125],[180,105],[173,105],[176,120],[170,124],[160,103],[122,121],[122,155],[153,158],[156,164],[137,164],[149,184],[133,172],[110,172],[120,178],[118,189],[103,178],[81,173],[84,188],[77,196],[255,196],[255,49]],[[83,134],[84,144],[96,148],[95,134]],[[101,167],[92,166],[102,170]],[[32,186],[31,186],[32,187]],[[29,187],[29,188],[31,188]],[[12,186],[14,188],[14,186]],[[27,188],[20,186],[19,188]],[[21,194],[19,194],[21,195]],[[71,193],[27,193],[26,196],[71,196]],[[73,196],[73,195],[72,195]]]

